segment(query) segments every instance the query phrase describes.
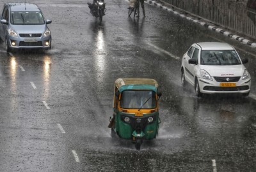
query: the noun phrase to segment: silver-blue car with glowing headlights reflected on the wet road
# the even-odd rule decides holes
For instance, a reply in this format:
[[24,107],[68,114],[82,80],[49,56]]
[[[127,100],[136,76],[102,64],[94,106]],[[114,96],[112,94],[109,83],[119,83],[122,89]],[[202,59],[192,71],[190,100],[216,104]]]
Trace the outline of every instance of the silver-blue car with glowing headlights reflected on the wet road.
[[51,49],[51,31],[36,4],[5,3],[0,16],[0,37],[6,52],[14,48]]

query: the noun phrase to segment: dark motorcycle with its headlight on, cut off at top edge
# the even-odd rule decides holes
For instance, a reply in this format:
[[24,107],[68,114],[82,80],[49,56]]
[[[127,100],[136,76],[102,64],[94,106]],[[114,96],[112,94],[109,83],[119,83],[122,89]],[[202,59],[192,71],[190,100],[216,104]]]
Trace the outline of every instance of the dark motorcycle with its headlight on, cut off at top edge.
[[99,17],[100,22],[102,22],[102,17],[105,15],[106,12],[106,4],[104,0],[93,0],[92,3],[87,3],[90,8],[90,13],[93,15],[93,17]]

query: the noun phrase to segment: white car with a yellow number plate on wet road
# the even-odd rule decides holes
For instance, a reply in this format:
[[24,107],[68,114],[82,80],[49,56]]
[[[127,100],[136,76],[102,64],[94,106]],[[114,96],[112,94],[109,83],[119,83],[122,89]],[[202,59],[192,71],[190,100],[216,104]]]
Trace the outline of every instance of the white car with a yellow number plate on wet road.
[[182,57],[181,82],[195,87],[196,96],[215,93],[241,93],[248,96],[251,77],[239,57],[227,43],[194,43]]

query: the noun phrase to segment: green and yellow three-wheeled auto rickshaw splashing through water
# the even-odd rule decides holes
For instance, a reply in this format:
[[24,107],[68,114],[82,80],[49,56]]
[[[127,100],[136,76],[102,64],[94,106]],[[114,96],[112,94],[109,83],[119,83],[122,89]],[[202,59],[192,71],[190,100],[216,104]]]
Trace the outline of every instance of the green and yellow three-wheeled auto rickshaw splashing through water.
[[114,92],[108,127],[120,138],[132,140],[140,150],[143,140],[156,138],[161,123],[158,83],[149,78],[118,78]]

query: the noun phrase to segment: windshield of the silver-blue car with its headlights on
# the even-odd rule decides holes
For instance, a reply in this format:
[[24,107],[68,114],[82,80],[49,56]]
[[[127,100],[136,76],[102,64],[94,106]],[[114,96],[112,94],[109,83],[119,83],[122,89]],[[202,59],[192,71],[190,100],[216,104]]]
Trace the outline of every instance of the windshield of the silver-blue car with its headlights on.
[[12,12],[11,14],[11,24],[17,25],[35,25],[44,24],[44,17],[40,12]]

